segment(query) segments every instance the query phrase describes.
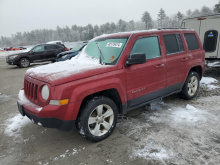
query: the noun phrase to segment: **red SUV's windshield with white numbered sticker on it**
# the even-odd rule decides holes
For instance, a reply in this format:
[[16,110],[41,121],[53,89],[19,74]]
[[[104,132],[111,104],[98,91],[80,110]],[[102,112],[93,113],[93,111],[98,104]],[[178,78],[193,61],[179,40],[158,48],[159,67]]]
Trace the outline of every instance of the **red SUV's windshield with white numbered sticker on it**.
[[99,59],[101,64],[115,65],[128,38],[105,38],[91,41],[85,52],[92,58]]

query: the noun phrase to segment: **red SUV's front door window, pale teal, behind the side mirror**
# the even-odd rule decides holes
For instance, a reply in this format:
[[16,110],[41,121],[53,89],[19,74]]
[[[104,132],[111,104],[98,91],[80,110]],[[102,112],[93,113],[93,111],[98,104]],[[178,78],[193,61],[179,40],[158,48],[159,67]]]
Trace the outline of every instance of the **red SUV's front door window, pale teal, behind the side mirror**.
[[130,55],[134,53],[145,53],[146,59],[160,57],[160,45],[158,37],[153,36],[138,39],[135,42]]

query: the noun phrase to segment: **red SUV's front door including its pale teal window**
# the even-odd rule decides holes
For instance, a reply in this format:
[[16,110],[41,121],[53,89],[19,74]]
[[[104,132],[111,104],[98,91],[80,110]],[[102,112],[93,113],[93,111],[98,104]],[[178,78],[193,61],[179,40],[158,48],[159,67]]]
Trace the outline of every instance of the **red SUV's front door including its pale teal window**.
[[134,107],[163,95],[166,86],[166,62],[158,35],[139,36],[130,52],[145,53],[146,63],[125,68],[128,106]]

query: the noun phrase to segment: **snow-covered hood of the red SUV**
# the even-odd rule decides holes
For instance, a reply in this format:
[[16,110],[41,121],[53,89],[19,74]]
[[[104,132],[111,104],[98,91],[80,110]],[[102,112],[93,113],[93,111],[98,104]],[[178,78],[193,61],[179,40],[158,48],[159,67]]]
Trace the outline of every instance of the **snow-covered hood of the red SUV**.
[[[79,58],[80,57],[80,58]],[[101,65],[99,60],[78,56],[72,60],[28,69],[26,76],[49,83],[51,86],[116,70],[116,65]]]

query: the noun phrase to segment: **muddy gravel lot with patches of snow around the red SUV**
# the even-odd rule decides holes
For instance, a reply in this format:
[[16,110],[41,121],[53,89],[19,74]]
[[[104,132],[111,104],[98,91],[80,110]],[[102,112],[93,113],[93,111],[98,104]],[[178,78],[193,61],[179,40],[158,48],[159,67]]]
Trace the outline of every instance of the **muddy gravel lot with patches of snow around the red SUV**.
[[[35,64],[31,67],[44,64]],[[220,163],[220,68],[207,68],[190,101],[173,95],[122,116],[113,134],[91,143],[74,130],[32,124],[16,105],[27,69],[0,54],[0,164],[210,164]]]

